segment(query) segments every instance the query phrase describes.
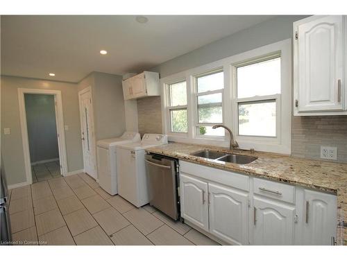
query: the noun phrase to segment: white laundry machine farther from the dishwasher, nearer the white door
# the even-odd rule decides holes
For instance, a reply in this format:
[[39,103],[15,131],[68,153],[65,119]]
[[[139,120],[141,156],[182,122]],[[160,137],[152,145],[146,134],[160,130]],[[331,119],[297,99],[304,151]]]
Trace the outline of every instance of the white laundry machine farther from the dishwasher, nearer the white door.
[[121,137],[96,142],[99,185],[111,195],[118,193],[116,146],[138,141],[141,141],[138,132],[124,132]]

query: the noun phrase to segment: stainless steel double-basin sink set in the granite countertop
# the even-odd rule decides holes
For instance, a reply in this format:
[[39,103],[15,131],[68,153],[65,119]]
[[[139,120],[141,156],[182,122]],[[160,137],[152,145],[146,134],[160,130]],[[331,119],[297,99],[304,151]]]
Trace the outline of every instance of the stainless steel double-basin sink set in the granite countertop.
[[230,162],[232,164],[249,164],[257,159],[257,157],[253,156],[220,153],[214,150],[201,150],[196,153],[191,153],[190,155],[207,159],[215,159],[221,162]]

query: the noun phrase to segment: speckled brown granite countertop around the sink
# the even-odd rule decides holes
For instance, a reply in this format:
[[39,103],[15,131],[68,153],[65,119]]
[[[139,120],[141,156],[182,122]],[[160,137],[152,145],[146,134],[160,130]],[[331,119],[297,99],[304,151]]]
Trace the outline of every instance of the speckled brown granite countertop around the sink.
[[[210,149],[230,153],[227,148],[216,146],[201,146],[197,144],[169,143],[164,146],[154,146],[146,151],[183,159],[187,162],[235,171],[269,180],[296,184],[310,189],[317,189],[337,195],[338,214],[347,222],[347,164],[325,162],[314,159],[293,158],[288,155],[264,153],[249,150],[234,150],[233,153],[257,157],[250,164],[232,164],[190,155],[199,150]],[[338,234],[339,236],[339,234]],[[339,239],[339,237],[338,237]],[[344,228],[344,241],[347,244],[347,228]]]

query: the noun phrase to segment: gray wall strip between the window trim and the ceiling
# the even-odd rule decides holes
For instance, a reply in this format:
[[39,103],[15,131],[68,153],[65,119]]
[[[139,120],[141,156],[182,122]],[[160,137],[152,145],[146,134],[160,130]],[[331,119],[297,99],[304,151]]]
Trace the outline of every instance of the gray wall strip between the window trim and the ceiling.
[[306,16],[282,15],[251,28],[239,31],[199,49],[180,55],[160,64],[150,71],[157,71],[164,78],[171,74],[221,60],[251,49],[291,38],[293,22]]

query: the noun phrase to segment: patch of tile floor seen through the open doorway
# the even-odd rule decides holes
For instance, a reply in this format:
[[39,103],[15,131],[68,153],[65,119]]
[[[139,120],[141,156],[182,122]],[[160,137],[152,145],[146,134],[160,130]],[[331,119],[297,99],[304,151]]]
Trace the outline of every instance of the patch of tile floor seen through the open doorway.
[[35,164],[31,166],[31,175],[33,176],[33,183],[61,177],[59,161]]

